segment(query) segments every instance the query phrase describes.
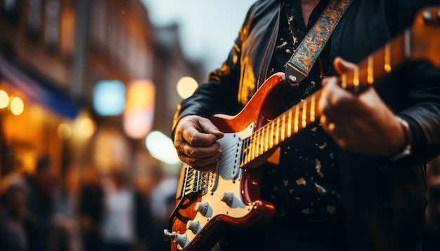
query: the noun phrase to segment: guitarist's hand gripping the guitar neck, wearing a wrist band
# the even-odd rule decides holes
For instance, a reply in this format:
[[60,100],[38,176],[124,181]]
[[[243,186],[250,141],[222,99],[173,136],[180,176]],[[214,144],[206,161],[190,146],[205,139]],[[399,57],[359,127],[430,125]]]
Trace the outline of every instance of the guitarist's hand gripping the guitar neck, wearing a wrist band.
[[[339,74],[356,66],[340,57],[334,64]],[[321,126],[340,147],[379,156],[389,156],[403,147],[403,128],[374,88],[354,95],[341,88],[335,76],[323,79],[322,84],[318,104]]]

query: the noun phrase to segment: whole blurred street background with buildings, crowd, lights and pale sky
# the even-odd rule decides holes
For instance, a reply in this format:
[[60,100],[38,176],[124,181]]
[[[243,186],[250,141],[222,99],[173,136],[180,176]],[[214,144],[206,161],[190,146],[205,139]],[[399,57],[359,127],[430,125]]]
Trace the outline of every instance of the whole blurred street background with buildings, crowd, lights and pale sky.
[[0,250],[169,250],[174,111],[254,1],[0,0]]

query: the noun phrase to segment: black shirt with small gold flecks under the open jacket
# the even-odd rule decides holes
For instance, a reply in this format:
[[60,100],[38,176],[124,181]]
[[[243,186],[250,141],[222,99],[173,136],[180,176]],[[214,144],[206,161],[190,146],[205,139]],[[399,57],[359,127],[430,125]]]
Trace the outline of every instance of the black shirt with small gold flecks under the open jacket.
[[[285,71],[286,62],[328,1],[321,1],[316,6],[307,27],[299,4],[299,1],[285,1],[268,74]],[[300,83],[290,100],[285,101],[283,110],[320,88],[321,79],[330,72],[329,48],[329,44],[325,46],[309,76]],[[340,193],[336,147],[318,122],[294,135],[281,147],[280,165],[265,176],[262,186],[262,196],[275,203],[278,217],[312,221],[337,219]]]

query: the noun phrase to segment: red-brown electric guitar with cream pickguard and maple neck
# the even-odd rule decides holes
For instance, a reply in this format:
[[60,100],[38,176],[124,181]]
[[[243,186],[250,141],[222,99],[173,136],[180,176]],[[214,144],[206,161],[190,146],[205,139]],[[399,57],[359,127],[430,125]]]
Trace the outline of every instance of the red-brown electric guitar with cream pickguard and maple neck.
[[[408,60],[427,60],[440,68],[440,8],[426,8],[411,29],[340,76],[342,88],[361,93],[380,83]],[[275,206],[260,198],[261,175],[267,163],[277,164],[279,146],[318,119],[321,90],[278,116],[280,102],[294,91],[285,74],[271,76],[239,114],[210,119],[225,136],[219,140],[223,158],[213,172],[183,165],[176,208],[166,240],[171,250],[210,250],[230,226],[264,224]]]

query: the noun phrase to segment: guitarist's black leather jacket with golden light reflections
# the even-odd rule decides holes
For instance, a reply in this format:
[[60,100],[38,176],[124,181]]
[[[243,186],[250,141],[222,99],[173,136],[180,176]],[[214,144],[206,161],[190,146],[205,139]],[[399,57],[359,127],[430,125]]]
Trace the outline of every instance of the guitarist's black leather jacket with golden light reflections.
[[[415,0],[353,0],[332,34],[330,60],[341,56],[359,62],[409,27],[425,5]],[[181,102],[173,130],[182,116],[240,111],[266,79],[278,15],[279,0],[252,6],[224,65]],[[418,250],[427,203],[423,164],[440,154],[440,73],[425,62],[411,63],[377,91],[410,124],[413,154],[392,163],[341,150],[347,240],[350,250]]]

